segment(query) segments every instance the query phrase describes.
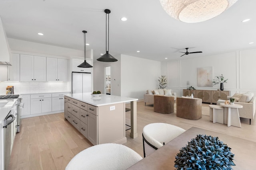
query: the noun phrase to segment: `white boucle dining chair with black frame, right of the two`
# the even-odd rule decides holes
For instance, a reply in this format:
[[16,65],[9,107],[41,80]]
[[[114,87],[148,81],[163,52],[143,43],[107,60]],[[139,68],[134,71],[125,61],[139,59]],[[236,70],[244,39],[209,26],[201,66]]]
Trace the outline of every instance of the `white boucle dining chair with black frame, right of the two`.
[[185,130],[168,123],[151,123],[143,128],[144,157],[184,133]]

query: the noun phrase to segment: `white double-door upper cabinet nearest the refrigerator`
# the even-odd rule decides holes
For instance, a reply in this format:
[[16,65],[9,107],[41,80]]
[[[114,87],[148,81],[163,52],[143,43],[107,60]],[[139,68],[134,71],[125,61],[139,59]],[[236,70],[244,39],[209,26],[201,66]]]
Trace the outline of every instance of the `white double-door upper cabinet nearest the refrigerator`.
[[47,81],[68,81],[68,60],[47,57],[46,59]]

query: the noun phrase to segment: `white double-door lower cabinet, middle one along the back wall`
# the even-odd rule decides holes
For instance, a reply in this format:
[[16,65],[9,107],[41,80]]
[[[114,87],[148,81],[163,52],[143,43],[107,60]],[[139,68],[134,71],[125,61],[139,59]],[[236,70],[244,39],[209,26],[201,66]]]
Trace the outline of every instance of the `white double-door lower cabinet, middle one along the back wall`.
[[52,98],[31,99],[31,114],[52,111]]

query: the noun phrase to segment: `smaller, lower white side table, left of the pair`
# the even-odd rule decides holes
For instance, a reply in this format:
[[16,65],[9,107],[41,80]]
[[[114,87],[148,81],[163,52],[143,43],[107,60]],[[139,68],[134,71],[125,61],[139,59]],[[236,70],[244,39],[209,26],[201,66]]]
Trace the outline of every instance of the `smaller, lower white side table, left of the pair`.
[[210,121],[212,123],[224,124],[224,107],[217,105],[209,105],[210,107]]

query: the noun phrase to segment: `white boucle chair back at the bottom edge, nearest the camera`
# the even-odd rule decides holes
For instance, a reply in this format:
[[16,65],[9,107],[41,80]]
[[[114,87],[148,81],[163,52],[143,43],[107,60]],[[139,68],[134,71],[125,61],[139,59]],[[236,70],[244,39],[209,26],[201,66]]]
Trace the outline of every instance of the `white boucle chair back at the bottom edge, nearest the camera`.
[[142,160],[134,150],[116,143],[95,145],[79,152],[65,170],[126,170]]

